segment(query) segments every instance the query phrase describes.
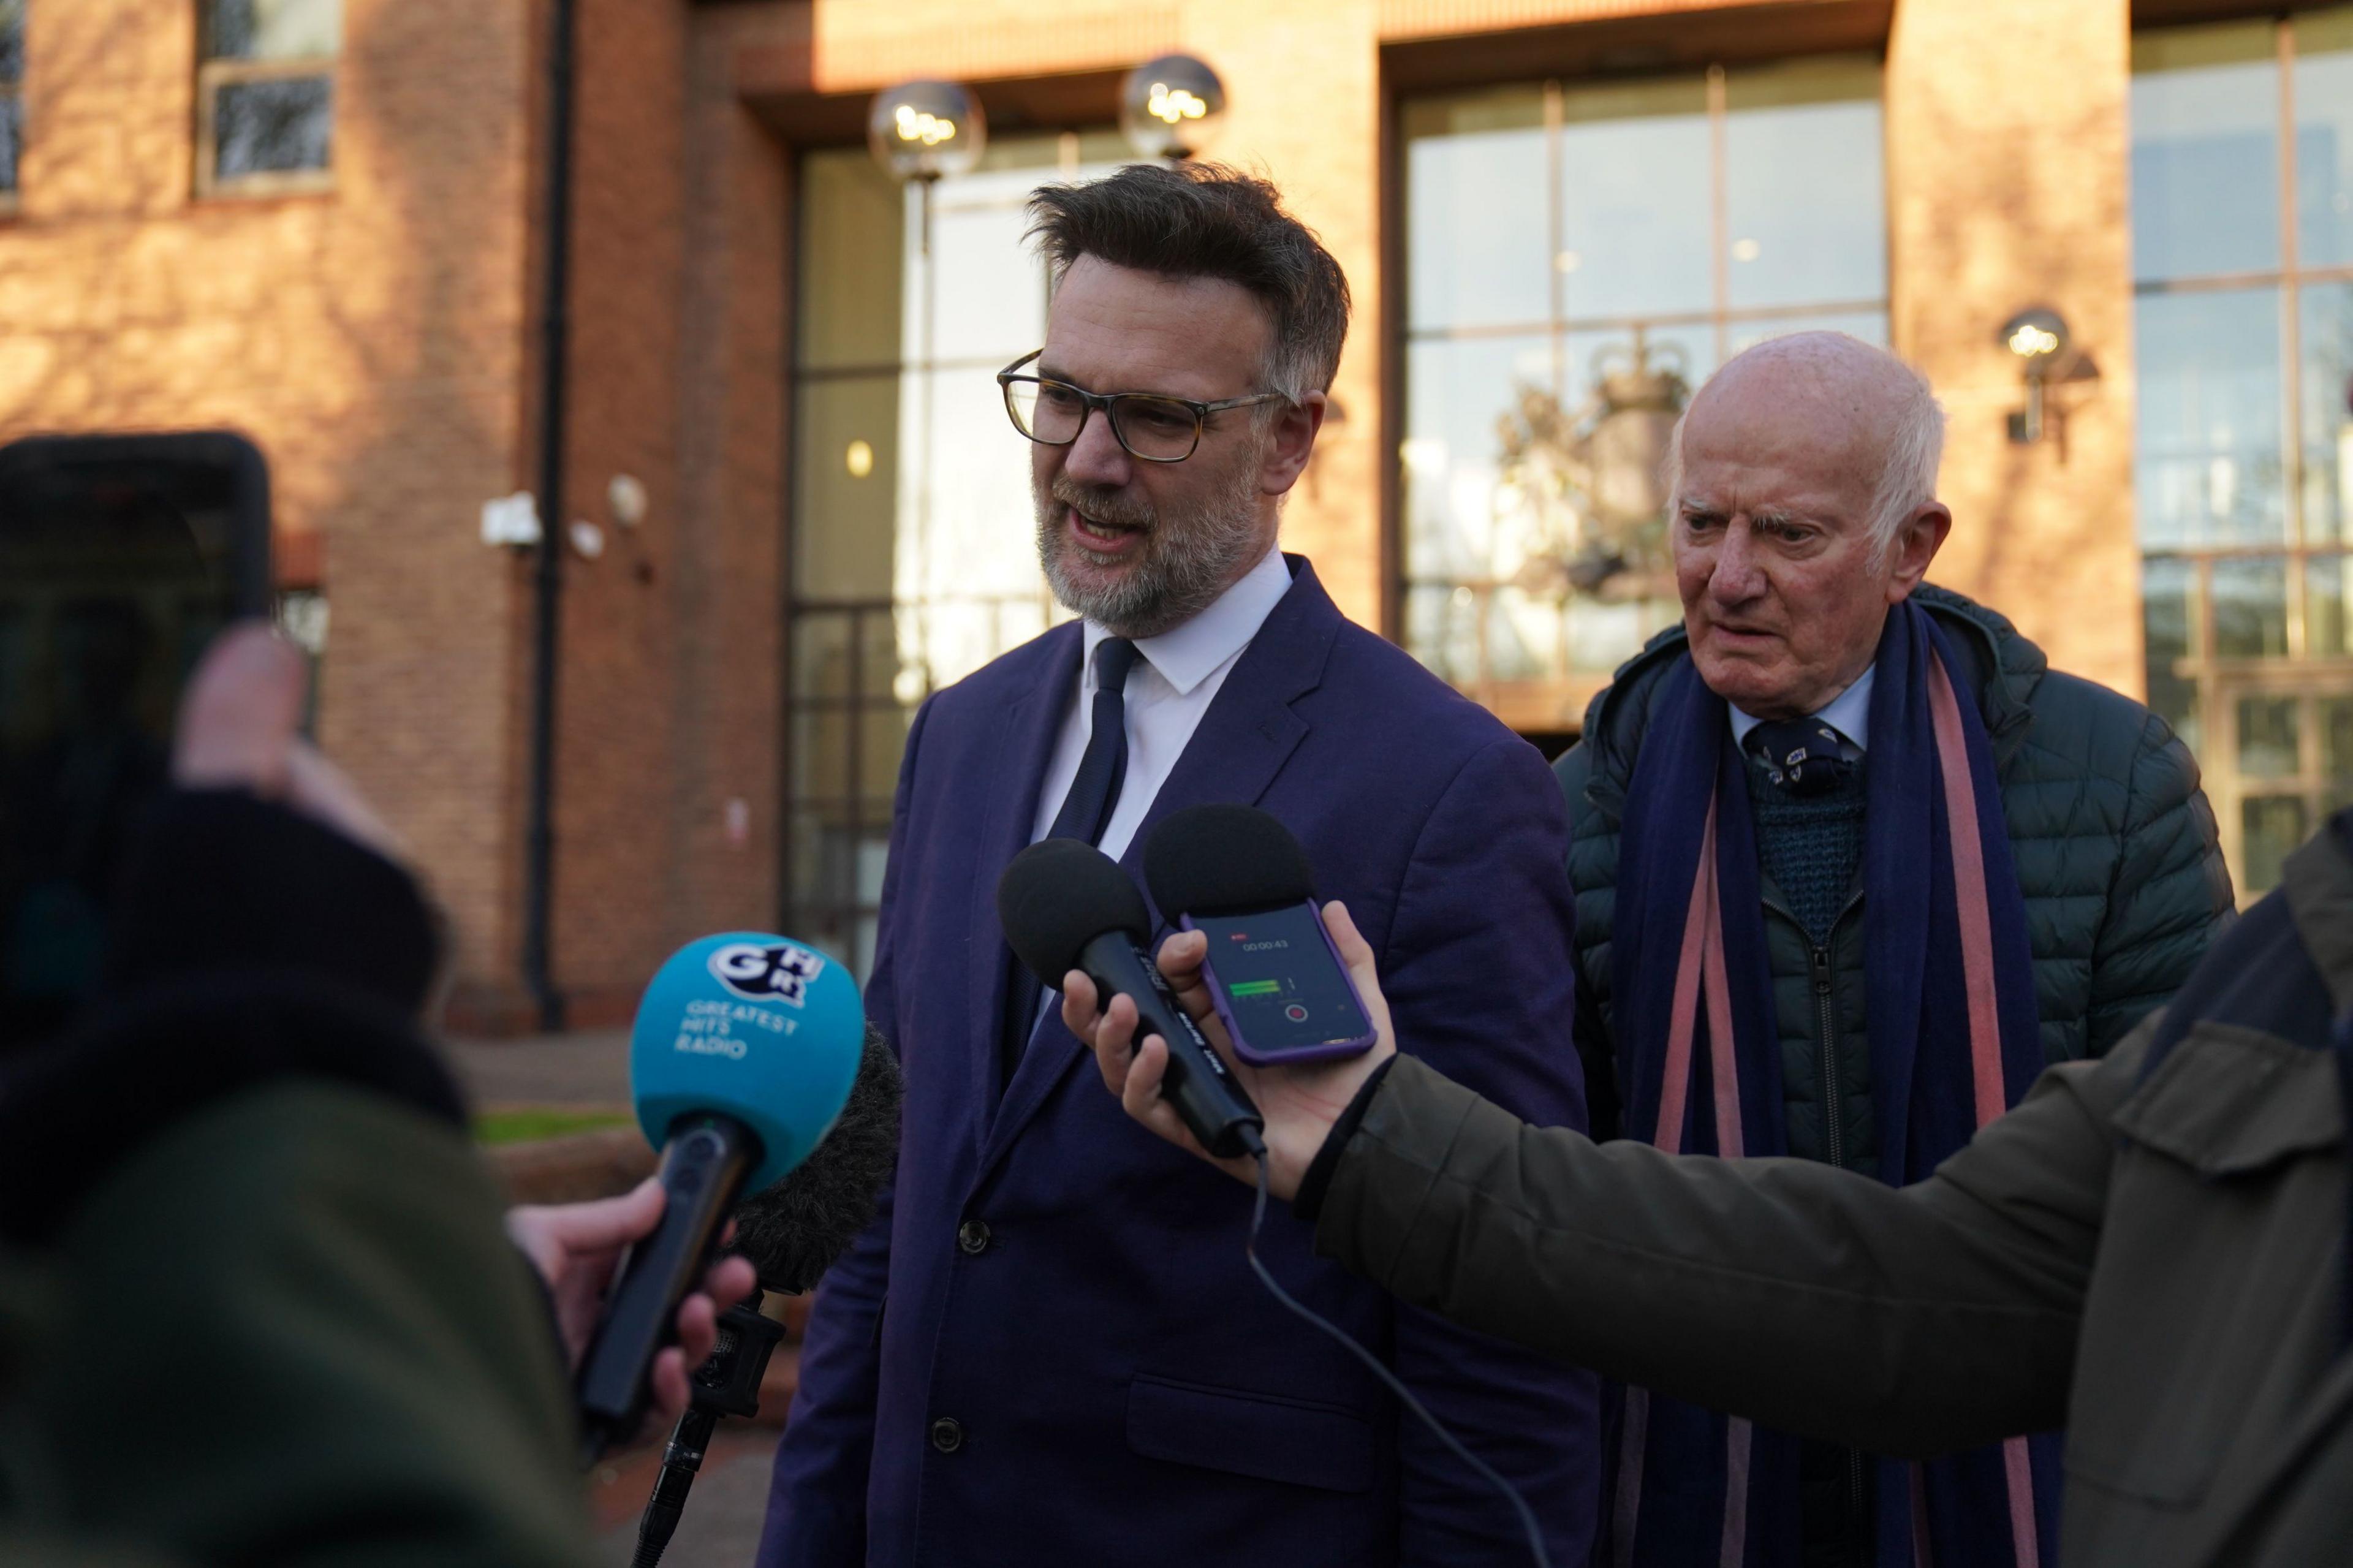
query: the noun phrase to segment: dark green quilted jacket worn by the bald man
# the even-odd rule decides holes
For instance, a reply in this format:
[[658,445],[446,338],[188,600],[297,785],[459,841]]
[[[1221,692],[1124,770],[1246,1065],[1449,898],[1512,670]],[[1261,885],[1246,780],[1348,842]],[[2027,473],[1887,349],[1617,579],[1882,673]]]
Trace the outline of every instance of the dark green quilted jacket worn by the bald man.
[[[1977,692],[2002,777],[2002,817],[2026,895],[2042,1055],[2106,1055],[2188,977],[2231,921],[2231,873],[2198,763],[2162,718],[2092,680],[2057,673],[2042,650],[1984,605],[1922,586]],[[1584,739],[1555,772],[1569,800],[1577,892],[1577,1048],[1595,1135],[1617,1132],[1609,928],[1619,819],[1664,676],[1685,655],[1659,633],[1593,699]],[[1864,909],[1857,890],[1821,946],[1765,881],[1765,939],[1781,1034],[1788,1151],[1878,1175],[1864,1017]]]

